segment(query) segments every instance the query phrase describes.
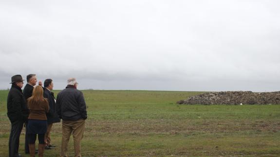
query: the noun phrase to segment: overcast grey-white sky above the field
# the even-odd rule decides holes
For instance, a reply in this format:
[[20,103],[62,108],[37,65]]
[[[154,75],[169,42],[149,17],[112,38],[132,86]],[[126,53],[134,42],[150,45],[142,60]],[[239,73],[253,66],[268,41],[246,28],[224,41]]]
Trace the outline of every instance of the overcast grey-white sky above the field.
[[[0,89],[279,91],[279,0],[1,0]],[[25,82],[26,83],[26,82]]]

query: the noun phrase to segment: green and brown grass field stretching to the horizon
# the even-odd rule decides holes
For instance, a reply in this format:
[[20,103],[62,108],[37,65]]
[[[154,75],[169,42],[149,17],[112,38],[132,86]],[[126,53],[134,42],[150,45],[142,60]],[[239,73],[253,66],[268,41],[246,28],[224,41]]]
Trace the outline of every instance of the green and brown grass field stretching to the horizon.
[[[55,91],[57,94],[58,91]],[[7,90],[0,91],[0,157],[8,156]],[[280,105],[177,105],[202,92],[85,90],[88,105],[83,157],[279,157]],[[24,157],[24,132],[19,152]],[[45,157],[58,157],[61,124],[54,124]],[[74,156],[73,139],[69,155]]]

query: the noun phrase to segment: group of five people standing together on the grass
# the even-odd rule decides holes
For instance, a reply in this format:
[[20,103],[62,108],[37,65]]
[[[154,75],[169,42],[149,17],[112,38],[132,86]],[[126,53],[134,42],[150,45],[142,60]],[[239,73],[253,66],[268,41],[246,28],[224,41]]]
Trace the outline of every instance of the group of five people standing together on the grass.
[[[54,83],[52,79],[37,84],[36,74],[26,77],[27,84],[23,87],[21,75],[11,78],[12,87],[7,99],[7,115],[11,122],[9,138],[9,157],[21,157],[19,154],[19,136],[23,126],[25,132],[25,154],[43,157],[45,149],[52,149],[50,132],[53,123],[62,119],[61,157],[68,157],[67,147],[71,134],[74,138],[75,157],[81,157],[80,141],[85,130],[87,119],[86,103],[83,93],[77,90],[78,83],[75,78],[67,80],[67,87],[60,91],[55,98],[52,92]],[[36,139],[38,135],[38,152]]]

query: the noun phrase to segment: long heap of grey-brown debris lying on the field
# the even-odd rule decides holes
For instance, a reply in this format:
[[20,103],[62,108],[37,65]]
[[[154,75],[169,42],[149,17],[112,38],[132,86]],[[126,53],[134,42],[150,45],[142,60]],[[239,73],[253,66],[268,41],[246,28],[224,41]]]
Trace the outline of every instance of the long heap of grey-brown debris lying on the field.
[[207,92],[191,96],[186,100],[178,101],[177,104],[187,105],[276,105],[280,104],[280,91],[261,92],[252,91],[222,91]]

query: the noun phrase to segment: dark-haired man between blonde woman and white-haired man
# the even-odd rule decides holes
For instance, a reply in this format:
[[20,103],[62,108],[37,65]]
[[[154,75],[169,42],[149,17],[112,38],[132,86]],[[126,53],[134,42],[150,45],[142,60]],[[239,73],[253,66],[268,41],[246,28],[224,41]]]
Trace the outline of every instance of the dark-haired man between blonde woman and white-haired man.
[[53,123],[60,122],[60,119],[56,113],[56,98],[54,96],[54,93],[52,92],[53,88],[54,88],[53,80],[46,79],[44,81],[44,97],[47,98],[49,101],[50,111],[47,114],[48,128],[45,134],[45,143],[46,143],[45,149],[52,149],[52,147],[56,147],[55,145],[51,144],[50,132]]

